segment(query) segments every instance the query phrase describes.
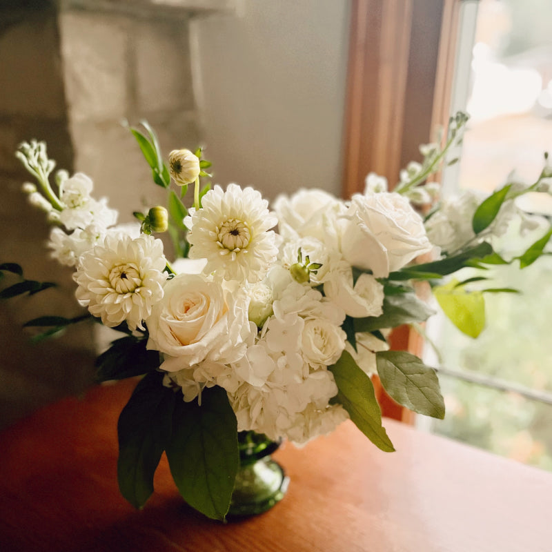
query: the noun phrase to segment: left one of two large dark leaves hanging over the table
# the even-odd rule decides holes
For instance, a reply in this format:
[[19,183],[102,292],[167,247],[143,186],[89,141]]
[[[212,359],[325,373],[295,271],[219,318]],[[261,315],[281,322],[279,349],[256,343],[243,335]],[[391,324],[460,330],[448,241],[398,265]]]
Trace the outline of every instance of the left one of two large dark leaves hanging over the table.
[[179,395],[164,387],[162,380],[161,373],[146,375],[117,424],[119,490],[135,508],[144,506],[153,492],[153,475],[172,431],[172,411]]

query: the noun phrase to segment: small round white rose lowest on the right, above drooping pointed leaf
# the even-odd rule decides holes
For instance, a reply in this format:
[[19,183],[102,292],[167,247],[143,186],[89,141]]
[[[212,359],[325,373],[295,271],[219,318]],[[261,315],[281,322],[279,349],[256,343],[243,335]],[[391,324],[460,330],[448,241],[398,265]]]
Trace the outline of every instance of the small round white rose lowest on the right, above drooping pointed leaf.
[[335,364],[345,348],[346,333],[324,318],[307,319],[301,335],[303,357],[313,368]]

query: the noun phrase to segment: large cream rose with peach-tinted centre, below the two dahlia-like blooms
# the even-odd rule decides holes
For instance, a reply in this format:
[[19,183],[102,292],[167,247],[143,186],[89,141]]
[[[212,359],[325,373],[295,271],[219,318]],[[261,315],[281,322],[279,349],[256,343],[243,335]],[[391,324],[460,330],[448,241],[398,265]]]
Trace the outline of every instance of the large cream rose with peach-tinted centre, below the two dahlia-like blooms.
[[251,331],[248,297],[202,275],[181,274],[165,284],[148,330],[148,348],[164,353],[161,369],[168,372],[204,361],[237,362]]

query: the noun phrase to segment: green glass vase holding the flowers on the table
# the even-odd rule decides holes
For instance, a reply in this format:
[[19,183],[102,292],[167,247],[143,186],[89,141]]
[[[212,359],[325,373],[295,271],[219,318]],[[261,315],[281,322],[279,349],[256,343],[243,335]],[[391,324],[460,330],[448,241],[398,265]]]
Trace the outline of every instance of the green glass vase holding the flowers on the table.
[[228,517],[266,512],[284,498],[289,477],[270,457],[280,444],[255,431],[238,433],[239,469]]

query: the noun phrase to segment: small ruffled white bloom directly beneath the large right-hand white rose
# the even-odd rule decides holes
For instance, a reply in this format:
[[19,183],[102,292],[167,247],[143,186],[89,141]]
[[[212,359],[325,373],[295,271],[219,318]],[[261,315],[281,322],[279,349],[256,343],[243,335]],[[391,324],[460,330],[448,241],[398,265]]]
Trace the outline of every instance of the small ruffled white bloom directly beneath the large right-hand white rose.
[[384,286],[371,274],[361,274],[353,286],[353,270],[346,262],[328,276],[324,295],[353,318],[383,313]]

